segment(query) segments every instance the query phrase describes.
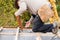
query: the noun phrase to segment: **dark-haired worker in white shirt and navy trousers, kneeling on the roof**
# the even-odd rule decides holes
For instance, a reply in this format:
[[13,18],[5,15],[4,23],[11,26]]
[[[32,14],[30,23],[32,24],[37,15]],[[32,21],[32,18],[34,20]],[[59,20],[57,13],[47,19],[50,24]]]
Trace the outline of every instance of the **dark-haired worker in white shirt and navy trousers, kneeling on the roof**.
[[23,30],[23,25],[20,20],[20,15],[28,9],[28,11],[32,14],[30,20],[26,23],[26,25],[33,24],[32,31],[33,32],[52,32],[57,24],[54,22],[53,24],[44,24],[41,18],[38,16],[38,9],[43,5],[48,5],[51,8],[51,4],[48,0],[16,0],[15,5],[18,10],[15,12],[16,20],[19,24],[21,30]]

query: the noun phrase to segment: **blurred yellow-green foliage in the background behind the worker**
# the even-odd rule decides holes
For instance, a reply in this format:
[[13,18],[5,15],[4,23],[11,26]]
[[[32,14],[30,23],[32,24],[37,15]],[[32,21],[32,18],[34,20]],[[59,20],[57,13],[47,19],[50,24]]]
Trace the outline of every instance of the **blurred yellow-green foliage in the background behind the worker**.
[[[14,16],[17,9],[14,6],[15,0],[0,0],[0,27],[17,27],[16,18]],[[60,15],[60,0],[57,0],[57,10]],[[29,20],[31,14],[28,11],[24,12],[21,19],[23,20],[23,25]]]

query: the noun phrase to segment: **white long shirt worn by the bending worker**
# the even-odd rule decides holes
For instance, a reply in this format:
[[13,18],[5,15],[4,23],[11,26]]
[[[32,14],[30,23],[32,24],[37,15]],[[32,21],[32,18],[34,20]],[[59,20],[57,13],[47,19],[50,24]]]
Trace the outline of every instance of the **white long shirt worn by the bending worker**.
[[51,6],[48,0],[19,0],[18,1],[19,9],[18,11],[15,12],[15,16],[21,15],[27,9],[31,14],[36,15],[38,9],[45,4],[48,5],[49,7]]

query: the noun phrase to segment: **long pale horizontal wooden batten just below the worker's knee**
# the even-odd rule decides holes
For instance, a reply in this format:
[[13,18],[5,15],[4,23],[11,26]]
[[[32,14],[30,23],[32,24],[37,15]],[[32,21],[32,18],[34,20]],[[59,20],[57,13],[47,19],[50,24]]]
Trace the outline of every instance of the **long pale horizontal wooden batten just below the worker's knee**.
[[[18,33],[20,36],[53,36],[52,33]],[[38,35],[37,35],[38,34]],[[60,34],[60,33],[58,33]],[[16,33],[0,33],[0,35],[16,35]]]

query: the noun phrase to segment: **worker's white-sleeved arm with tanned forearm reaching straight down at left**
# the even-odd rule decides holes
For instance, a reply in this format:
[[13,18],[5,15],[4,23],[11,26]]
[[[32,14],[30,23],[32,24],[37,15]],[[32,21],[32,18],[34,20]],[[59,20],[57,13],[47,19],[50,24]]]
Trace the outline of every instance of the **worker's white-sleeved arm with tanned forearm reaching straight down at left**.
[[22,25],[22,22],[21,22],[21,19],[20,19],[20,16],[19,16],[19,15],[21,15],[24,11],[26,11],[26,9],[27,9],[26,3],[25,3],[25,2],[21,2],[21,3],[19,4],[19,9],[18,9],[18,11],[15,12],[16,20],[17,20],[18,25],[19,25],[19,27],[20,27],[21,29],[23,29],[23,25]]

